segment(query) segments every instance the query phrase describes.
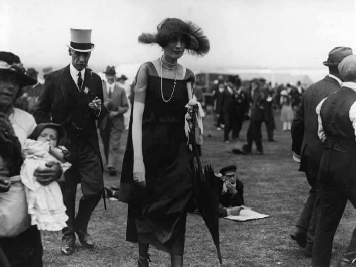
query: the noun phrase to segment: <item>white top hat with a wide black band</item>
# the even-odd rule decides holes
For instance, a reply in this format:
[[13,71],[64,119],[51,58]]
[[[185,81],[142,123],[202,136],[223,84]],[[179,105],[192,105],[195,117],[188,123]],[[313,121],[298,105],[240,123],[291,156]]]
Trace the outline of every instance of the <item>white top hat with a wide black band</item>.
[[94,50],[94,44],[91,43],[91,29],[70,29],[71,43],[69,48],[78,52],[90,52]]

